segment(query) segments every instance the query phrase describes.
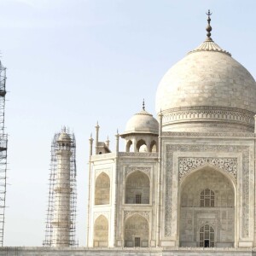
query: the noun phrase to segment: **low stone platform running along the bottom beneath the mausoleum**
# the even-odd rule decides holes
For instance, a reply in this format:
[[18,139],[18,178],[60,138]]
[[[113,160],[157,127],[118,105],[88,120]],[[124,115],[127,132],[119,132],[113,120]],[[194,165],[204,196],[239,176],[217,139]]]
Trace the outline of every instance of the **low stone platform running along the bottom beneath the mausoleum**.
[[88,248],[88,247],[0,247],[0,256],[256,256],[256,248]]

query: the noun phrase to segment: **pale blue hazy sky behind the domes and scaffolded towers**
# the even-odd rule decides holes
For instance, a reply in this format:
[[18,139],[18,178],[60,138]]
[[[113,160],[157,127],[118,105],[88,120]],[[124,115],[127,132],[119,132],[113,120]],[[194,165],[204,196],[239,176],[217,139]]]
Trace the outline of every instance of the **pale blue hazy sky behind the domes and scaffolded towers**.
[[[9,134],[4,246],[42,246],[50,143],[66,125],[77,142],[77,239],[86,246],[90,133],[114,151],[117,129],[154,111],[160,79],[206,38],[256,78],[254,0],[0,0]],[[121,143],[120,149],[122,150]]]

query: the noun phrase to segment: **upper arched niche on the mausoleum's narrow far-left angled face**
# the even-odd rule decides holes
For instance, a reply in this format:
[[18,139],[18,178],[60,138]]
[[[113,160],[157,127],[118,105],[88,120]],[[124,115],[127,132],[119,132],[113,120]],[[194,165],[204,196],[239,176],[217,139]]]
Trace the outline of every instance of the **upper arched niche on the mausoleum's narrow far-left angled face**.
[[110,179],[108,174],[102,172],[96,177],[95,183],[95,205],[108,205],[110,193]]

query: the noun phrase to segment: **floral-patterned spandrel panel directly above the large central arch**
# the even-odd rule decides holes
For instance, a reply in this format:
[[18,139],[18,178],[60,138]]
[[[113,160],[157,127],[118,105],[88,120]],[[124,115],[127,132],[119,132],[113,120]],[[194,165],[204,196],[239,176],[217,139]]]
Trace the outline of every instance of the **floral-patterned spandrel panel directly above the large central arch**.
[[237,158],[226,158],[226,157],[179,157],[178,158],[178,178],[182,179],[183,176],[188,174],[190,171],[195,170],[199,166],[210,165],[217,166],[223,169],[224,172],[230,174],[236,180],[237,177]]

